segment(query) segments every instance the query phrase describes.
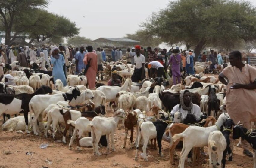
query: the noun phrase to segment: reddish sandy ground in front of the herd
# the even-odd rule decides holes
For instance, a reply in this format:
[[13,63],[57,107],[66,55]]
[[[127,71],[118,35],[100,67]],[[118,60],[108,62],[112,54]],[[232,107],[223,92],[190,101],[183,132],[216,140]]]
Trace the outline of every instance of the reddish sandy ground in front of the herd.
[[[108,116],[112,116],[113,112],[110,112],[108,108]],[[2,118],[0,123],[2,124]],[[101,156],[94,156],[92,148],[82,147],[81,152],[76,150],[69,150],[68,143],[70,138],[67,137],[67,144],[62,142],[53,141],[51,138],[45,138],[43,134],[39,136],[29,134],[19,134],[16,132],[0,131],[0,168],[42,168],[42,167],[178,167],[178,157],[175,157],[175,165],[170,165],[169,160],[169,144],[162,141],[162,151],[164,157],[158,156],[158,150],[147,150],[147,154],[151,155],[149,161],[146,162],[142,158],[135,161],[136,149],[130,149],[130,132],[127,138],[126,149],[121,149],[124,139],[124,128],[121,128],[121,124],[118,125],[118,129],[115,132],[115,152],[106,154],[106,147],[103,147],[100,152]],[[61,140],[62,135],[57,134],[57,139]],[[133,141],[136,139],[136,132],[133,134]],[[76,142],[76,141],[75,141]],[[47,149],[40,149],[39,146],[42,143],[48,143]],[[237,148],[237,140],[232,140],[233,148],[233,161],[226,162],[226,168],[251,168],[253,167],[252,158],[244,156],[242,149]],[[76,144],[73,144],[75,147]],[[177,149],[178,154],[181,148]],[[204,147],[204,151],[207,152],[207,147]],[[10,152],[10,154],[8,154]],[[26,152],[34,152],[32,155],[26,155]],[[139,149],[139,155],[142,153],[142,147]],[[32,157],[32,158],[31,158]],[[190,163],[185,163],[186,167],[192,167]],[[200,162],[195,168],[209,167],[208,156],[200,155]]]

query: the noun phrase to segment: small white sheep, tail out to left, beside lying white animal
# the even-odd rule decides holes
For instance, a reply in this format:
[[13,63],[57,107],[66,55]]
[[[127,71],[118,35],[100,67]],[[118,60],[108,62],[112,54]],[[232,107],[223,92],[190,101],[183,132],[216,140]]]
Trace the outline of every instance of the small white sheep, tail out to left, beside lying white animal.
[[[73,127],[75,127],[74,132],[73,132],[73,136],[70,139],[70,143],[69,143],[69,148],[72,147],[72,144],[74,142],[74,139],[76,138],[76,135],[78,134],[78,137],[76,139],[76,142],[78,142],[78,140],[82,137],[82,135],[84,133],[88,133],[91,132],[91,128],[88,127],[87,125],[90,124],[91,122],[89,121],[89,119],[85,118],[85,117],[79,117],[76,121],[72,121],[72,120],[68,120],[67,124],[71,124]],[[80,144],[80,141],[79,141]],[[76,148],[77,150],[81,150],[79,147],[79,144],[76,144]],[[80,144],[81,145],[81,144]],[[83,145],[81,145],[83,146]]]

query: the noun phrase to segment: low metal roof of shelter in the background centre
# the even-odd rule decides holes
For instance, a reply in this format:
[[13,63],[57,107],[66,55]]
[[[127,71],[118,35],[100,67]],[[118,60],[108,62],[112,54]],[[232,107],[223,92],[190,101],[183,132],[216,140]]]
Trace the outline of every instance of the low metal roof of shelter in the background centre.
[[93,40],[92,42],[98,42],[98,43],[125,43],[125,44],[138,44],[140,41],[132,40],[129,38],[98,38],[96,40]]

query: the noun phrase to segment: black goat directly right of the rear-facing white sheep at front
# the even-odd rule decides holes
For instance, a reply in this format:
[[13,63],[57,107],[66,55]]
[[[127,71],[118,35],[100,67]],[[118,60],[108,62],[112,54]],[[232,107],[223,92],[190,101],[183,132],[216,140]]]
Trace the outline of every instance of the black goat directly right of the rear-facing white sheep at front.
[[229,161],[232,161],[232,150],[230,148],[230,140],[229,140],[229,135],[231,133],[231,129],[232,129],[232,126],[234,126],[234,122],[232,119],[227,119],[224,123],[224,130],[221,131],[221,133],[223,134],[223,136],[225,137],[226,139],[226,143],[227,143],[227,147],[226,149],[223,151],[223,158],[222,158],[222,168],[225,168],[225,165],[226,165],[226,155],[227,155],[227,152],[229,154]]

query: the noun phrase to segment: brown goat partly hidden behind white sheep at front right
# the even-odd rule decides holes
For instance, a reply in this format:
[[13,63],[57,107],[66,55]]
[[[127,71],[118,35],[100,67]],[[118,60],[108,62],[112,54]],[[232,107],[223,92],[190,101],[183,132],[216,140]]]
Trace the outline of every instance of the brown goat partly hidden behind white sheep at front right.
[[[173,124],[172,127],[170,127],[167,131],[165,131],[165,134],[167,136],[170,136],[173,137],[175,134],[180,134],[182,133],[183,131],[185,131],[186,128],[188,128],[189,126],[186,125],[186,124],[182,124],[182,123],[175,123]],[[180,139],[181,141],[183,141],[183,139],[181,138]],[[175,142],[173,142],[171,140],[171,143],[170,143],[170,162],[171,164],[174,164],[174,161],[173,161],[173,154],[175,152],[175,148],[176,146],[178,145],[178,143],[180,142],[180,140],[177,140]],[[176,152],[175,152],[176,153]],[[200,154],[200,148],[193,148],[193,165],[195,165],[196,163],[196,160],[198,161],[199,159],[199,154]],[[198,162],[197,162],[198,163]]]

